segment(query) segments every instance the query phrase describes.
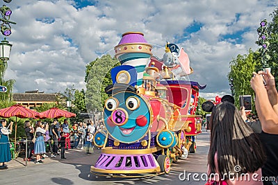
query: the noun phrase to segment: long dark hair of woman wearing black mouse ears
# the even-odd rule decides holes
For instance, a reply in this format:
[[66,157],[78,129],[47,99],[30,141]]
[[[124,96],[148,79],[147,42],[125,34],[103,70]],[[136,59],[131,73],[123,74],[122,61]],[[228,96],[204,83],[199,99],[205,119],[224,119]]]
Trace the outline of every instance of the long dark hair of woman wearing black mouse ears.
[[[218,169],[215,168],[217,152]],[[254,173],[263,166],[265,155],[259,137],[243,121],[236,107],[220,103],[211,113],[211,146],[208,152],[210,173],[220,177],[231,173]],[[235,169],[240,166],[241,170]],[[224,175],[227,179],[227,175]]]

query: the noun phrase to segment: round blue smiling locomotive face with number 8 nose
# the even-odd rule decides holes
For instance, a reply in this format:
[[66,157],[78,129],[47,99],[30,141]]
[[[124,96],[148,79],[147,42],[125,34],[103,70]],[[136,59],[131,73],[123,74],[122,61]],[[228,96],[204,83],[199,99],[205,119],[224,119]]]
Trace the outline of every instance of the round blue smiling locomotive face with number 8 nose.
[[145,99],[131,91],[122,91],[106,100],[104,123],[113,139],[133,143],[147,134],[151,114]]

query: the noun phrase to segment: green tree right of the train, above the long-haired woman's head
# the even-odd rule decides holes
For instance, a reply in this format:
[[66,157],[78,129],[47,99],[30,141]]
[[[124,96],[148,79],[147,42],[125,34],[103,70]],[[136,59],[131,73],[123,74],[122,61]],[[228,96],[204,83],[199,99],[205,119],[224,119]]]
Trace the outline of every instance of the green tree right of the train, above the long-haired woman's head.
[[[250,86],[252,72],[258,71],[261,68],[258,53],[249,51],[246,55],[238,55],[230,62],[230,72],[228,73],[229,81],[233,79],[235,105],[239,107],[239,96],[252,95],[254,91]],[[254,103],[253,103],[254,105]]]

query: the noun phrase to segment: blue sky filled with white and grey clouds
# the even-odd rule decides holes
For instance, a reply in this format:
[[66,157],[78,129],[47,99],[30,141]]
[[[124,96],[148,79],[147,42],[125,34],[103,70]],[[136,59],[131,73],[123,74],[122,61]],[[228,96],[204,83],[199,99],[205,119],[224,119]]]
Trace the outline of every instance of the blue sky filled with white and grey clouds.
[[[1,1],[3,3],[3,1]],[[229,94],[229,62],[245,54],[258,35],[261,19],[278,6],[276,0],[195,1],[37,1],[3,3],[13,10],[13,44],[6,79],[14,92],[48,93],[74,85],[85,88],[85,65],[104,53],[113,55],[122,33],[140,31],[150,44],[169,41],[182,46],[194,73],[190,80],[206,84],[201,96]],[[3,37],[2,37],[3,39]],[[162,50],[161,50],[162,51]],[[162,58],[159,50],[156,55]]]

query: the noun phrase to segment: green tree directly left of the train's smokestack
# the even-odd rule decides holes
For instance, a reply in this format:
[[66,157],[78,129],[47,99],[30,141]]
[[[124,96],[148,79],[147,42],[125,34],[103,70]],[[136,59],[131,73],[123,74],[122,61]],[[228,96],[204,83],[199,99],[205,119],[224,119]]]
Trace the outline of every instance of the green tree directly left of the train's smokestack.
[[88,112],[101,111],[104,101],[108,98],[105,88],[112,85],[111,69],[120,64],[111,55],[103,55],[86,66],[85,82],[87,91],[85,93],[85,103]]

